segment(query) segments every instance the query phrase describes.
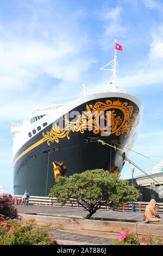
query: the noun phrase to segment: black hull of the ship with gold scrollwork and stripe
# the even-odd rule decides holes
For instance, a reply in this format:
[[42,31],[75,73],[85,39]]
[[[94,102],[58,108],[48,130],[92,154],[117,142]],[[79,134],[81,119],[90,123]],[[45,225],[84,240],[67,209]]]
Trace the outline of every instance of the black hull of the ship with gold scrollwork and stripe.
[[[93,111],[111,112],[111,132],[105,134],[87,122]],[[99,98],[87,101],[72,109],[84,111],[86,123],[81,118],[67,121],[68,113],[54,120],[21,147],[14,157],[14,194],[28,190],[33,196],[48,196],[55,184],[53,162],[64,163],[64,175],[82,173],[90,169],[104,169],[121,173],[122,154],[135,140],[140,109],[134,101],[121,97]],[[57,125],[64,119],[62,129]],[[84,129],[83,129],[84,127]],[[102,145],[102,141],[112,145]],[[120,148],[120,150],[117,150]],[[124,156],[124,155],[123,155]]]

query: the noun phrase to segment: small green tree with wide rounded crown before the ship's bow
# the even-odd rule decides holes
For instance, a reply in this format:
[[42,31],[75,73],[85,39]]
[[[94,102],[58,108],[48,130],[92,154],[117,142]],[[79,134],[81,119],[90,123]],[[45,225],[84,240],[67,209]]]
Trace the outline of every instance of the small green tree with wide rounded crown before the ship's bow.
[[69,177],[60,176],[49,193],[49,197],[57,197],[62,205],[66,200],[76,199],[78,204],[89,211],[85,218],[95,214],[102,204],[124,204],[136,201],[139,196],[140,192],[130,186],[128,181],[103,169],[86,170]]

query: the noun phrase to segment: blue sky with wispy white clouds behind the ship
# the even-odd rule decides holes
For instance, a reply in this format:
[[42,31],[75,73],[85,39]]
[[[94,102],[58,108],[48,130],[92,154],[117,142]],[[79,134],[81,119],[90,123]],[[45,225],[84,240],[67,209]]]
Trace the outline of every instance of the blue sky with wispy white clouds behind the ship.
[[[100,70],[118,51],[118,84],[143,104],[133,150],[163,159],[163,2],[160,0],[0,0],[0,186],[13,193],[11,124],[36,106],[67,103],[105,88]],[[126,162],[121,178],[131,178]],[[135,169],[134,175],[140,173]]]

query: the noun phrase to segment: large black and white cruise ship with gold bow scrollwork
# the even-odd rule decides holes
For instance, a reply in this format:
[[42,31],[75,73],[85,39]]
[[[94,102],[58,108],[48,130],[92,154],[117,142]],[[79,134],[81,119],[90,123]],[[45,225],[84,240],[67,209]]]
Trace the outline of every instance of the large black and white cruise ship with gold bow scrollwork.
[[117,86],[117,50],[122,50],[117,47],[115,40],[114,59],[101,68],[112,72],[111,91],[87,95],[84,86],[79,99],[37,107],[28,120],[12,124],[14,194],[28,190],[48,196],[60,175],[85,170],[121,175],[139,131],[142,104]]

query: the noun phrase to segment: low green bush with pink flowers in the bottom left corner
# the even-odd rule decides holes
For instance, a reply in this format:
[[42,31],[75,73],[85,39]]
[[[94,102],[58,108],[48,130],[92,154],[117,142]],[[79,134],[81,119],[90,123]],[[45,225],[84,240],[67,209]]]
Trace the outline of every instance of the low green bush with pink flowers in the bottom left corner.
[[35,228],[35,220],[0,221],[0,245],[56,245],[50,225]]

